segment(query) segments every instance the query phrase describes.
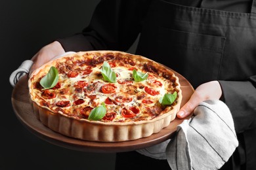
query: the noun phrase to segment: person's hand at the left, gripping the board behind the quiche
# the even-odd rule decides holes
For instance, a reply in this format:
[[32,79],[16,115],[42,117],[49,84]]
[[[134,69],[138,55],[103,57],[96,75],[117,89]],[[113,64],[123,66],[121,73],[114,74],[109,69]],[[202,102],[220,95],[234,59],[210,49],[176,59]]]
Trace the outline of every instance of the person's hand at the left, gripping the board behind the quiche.
[[44,63],[47,63],[51,59],[53,59],[56,56],[59,56],[61,54],[64,54],[65,50],[62,48],[62,45],[58,41],[54,41],[51,44],[48,44],[46,46],[43,46],[35,56],[31,59],[33,61],[33,65],[30,69],[30,74],[43,65]]

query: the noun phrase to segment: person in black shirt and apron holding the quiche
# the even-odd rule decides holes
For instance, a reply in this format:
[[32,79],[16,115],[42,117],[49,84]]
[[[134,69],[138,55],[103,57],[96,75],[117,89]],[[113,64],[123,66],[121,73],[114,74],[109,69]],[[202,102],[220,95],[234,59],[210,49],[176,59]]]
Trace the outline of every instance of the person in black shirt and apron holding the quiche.
[[[67,51],[125,51],[138,36],[136,54],[171,67],[196,89],[179,118],[205,99],[221,99],[230,108],[240,144],[222,169],[255,169],[256,0],[102,0],[81,33],[33,56],[32,71]],[[169,168],[166,160],[117,153],[117,169],[140,165]]]

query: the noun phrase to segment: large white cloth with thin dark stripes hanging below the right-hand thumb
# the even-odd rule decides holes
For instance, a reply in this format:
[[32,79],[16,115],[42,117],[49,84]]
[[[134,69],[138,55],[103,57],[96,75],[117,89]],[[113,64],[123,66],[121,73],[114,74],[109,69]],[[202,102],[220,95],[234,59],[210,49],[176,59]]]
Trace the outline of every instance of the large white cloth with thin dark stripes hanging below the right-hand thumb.
[[230,110],[222,101],[207,100],[196,107],[192,118],[177,127],[175,137],[169,142],[137,152],[151,158],[167,159],[172,170],[219,169],[237,146]]

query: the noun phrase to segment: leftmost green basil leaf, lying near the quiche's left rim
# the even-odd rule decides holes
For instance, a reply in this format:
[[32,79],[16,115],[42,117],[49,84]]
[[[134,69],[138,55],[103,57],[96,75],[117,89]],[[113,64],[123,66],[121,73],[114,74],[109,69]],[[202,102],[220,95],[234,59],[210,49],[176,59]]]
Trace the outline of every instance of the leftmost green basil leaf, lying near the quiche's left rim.
[[58,69],[52,66],[47,73],[41,80],[40,84],[43,86],[43,90],[53,88],[58,82]]

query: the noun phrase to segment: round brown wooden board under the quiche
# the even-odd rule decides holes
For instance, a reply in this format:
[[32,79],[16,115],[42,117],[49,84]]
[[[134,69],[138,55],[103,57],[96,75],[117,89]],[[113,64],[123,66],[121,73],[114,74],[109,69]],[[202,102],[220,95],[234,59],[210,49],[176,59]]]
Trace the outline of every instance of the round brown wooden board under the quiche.
[[[194,92],[194,88],[191,86],[188,80],[186,80],[186,78],[175,71],[173,72],[179,77],[182,90],[181,106],[183,106],[184,103],[190,99],[190,96]],[[175,118],[175,120],[173,120],[169,126],[163,128],[159,133],[154,133],[150,137],[145,137],[134,141],[105,143],[83,141],[67,137],[60,133],[56,133],[49,129],[49,127],[41,124],[41,122],[33,114],[32,103],[30,103],[30,96],[28,92],[28,75],[22,76],[22,78],[20,78],[18,83],[15,85],[12,91],[12,107],[18,120],[20,120],[24,126],[32,131],[34,135],[37,135],[37,137],[58,146],[85,152],[127,152],[153,146],[154,144],[158,144],[169,139],[176,131],[177,126],[183,121],[183,119]],[[190,118],[190,116],[188,116],[186,119]]]

